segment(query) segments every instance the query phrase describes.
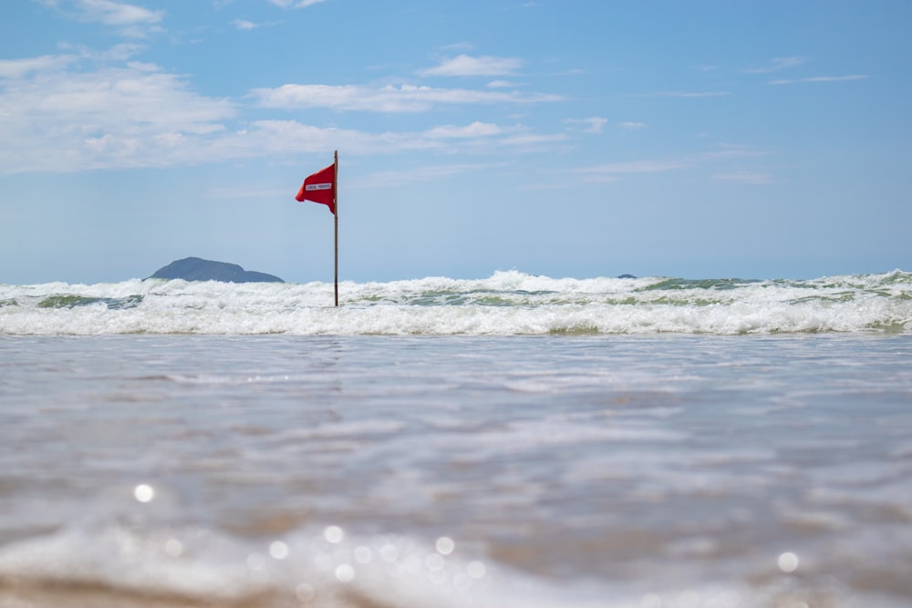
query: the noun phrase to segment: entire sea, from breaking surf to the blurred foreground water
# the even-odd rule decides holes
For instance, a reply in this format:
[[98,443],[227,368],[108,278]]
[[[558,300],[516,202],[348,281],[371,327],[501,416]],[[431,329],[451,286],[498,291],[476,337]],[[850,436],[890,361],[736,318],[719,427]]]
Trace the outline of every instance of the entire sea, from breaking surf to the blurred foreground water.
[[0,284],[0,608],[912,605],[912,273]]

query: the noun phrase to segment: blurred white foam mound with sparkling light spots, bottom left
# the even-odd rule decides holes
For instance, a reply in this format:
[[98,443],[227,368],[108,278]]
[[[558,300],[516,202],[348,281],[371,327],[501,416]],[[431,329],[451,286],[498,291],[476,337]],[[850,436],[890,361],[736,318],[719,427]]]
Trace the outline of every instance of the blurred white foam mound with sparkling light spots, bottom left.
[[[92,589],[103,605],[131,606],[150,599],[157,606],[263,608],[634,605],[536,582],[458,551],[451,539],[348,537],[328,526],[250,541],[194,527],[155,528],[132,515],[122,518],[128,525],[70,528],[0,549],[0,605],[13,605],[4,603],[5,588],[15,590],[16,602],[36,600],[31,594],[42,588],[52,597],[53,590]],[[27,605],[45,605],[47,596],[38,597]],[[85,605],[79,593],[53,600]]]

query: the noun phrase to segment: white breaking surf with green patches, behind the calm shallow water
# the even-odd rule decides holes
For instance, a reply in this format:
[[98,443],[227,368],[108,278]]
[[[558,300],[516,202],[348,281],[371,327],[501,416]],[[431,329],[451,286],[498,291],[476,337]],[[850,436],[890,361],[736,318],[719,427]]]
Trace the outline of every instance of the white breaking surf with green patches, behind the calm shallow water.
[[131,279],[0,285],[0,335],[581,335],[912,331],[912,273],[812,280],[551,278],[387,283]]

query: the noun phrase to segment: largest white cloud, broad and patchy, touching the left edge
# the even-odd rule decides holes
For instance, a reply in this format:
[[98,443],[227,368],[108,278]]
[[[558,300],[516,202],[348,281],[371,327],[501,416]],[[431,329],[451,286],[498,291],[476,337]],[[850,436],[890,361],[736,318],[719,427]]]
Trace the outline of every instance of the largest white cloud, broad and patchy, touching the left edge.
[[0,150],[0,172],[162,164],[187,138],[223,131],[235,113],[151,64],[76,72],[40,63],[46,68],[20,70],[0,91],[0,139],[16,142]]

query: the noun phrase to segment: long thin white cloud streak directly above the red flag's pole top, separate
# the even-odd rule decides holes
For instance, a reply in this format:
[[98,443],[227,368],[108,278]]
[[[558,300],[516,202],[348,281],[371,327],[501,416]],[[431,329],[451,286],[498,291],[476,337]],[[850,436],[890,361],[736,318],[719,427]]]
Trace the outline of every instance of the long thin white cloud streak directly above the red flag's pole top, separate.
[[359,85],[283,85],[251,91],[264,108],[333,108],[365,112],[425,112],[441,104],[542,103],[557,95],[518,91],[476,91],[415,85],[371,88]]

